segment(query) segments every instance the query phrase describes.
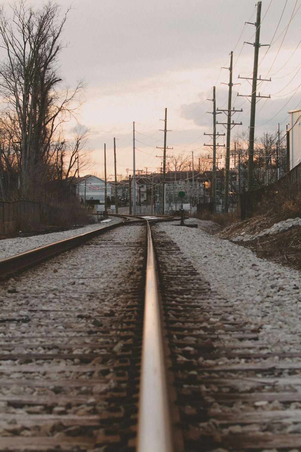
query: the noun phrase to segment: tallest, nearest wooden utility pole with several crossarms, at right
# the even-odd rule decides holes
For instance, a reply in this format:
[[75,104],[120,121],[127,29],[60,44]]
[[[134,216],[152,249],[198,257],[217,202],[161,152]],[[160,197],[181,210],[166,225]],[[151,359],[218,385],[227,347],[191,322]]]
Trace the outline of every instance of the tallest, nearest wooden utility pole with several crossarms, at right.
[[[259,35],[260,35],[260,16],[261,16],[261,1],[257,3],[257,17],[255,24],[252,24],[251,22],[247,22],[247,24],[255,25],[256,27],[256,34],[255,34],[255,42],[246,42],[246,44],[250,44],[254,46],[254,66],[253,66],[253,78],[249,79],[248,77],[240,77],[238,75],[238,78],[245,79],[245,80],[252,80],[252,93],[250,96],[251,98],[251,111],[250,111],[250,130],[249,130],[249,161],[248,161],[248,190],[253,188],[253,173],[254,173],[254,135],[255,135],[255,111],[256,111],[256,98],[268,98],[269,96],[260,96],[260,93],[258,96],[256,96],[256,90],[257,90],[257,80],[260,82],[262,81],[271,81],[271,79],[262,79],[259,75],[259,79],[257,79],[257,73],[258,73],[258,56],[259,56],[259,47],[263,46],[269,46],[269,44],[259,44]],[[238,94],[237,95],[241,95]]]

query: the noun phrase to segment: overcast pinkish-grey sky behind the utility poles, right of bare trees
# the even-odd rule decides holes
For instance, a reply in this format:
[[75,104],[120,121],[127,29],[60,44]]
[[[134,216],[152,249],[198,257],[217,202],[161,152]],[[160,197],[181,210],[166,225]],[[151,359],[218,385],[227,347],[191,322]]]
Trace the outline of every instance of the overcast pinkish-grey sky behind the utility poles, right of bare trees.
[[[8,3],[8,2],[5,2]],[[43,2],[34,0],[33,5]],[[71,0],[59,0],[64,12]],[[79,122],[93,132],[90,145],[102,173],[107,147],[108,174],[113,174],[113,138],[116,137],[117,173],[133,170],[133,121],[136,129],[136,169],[160,167],[165,108],[168,155],[211,155],[213,85],[217,107],[227,108],[229,71],[233,51],[232,107],[243,108],[232,119],[248,129],[256,21],[254,0],[74,0],[63,38],[69,47],[60,54],[61,73],[70,85],[86,81],[86,102]],[[263,82],[257,91],[271,95],[257,103],[255,135],[285,130],[288,110],[301,106],[301,0],[263,0],[259,50]],[[300,44],[300,46],[299,46]],[[298,47],[299,46],[299,47]],[[226,122],[222,114],[219,122]],[[223,126],[218,132],[224,132]],[[223,142],[222,138],[219,140]]]

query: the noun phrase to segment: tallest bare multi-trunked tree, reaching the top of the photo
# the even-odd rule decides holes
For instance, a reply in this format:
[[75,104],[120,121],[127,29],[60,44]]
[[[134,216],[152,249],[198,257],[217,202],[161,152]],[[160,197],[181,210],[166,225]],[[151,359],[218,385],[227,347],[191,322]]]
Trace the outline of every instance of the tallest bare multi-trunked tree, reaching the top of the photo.
[[19,165],[19,188],[32,193],[47,174],[56,149],[60,128],[79,106],[83,83],[75,89],[60,87],[57,58],[65,44],[60,35],[67,12],[60,17],[59,6],[49,0],[41,9],[26,1],[10,7],[8,17],[0,7],[0,39],[6,59],[0,63],[0,94],[7,104],[10,131],[18,137],[15,150]]

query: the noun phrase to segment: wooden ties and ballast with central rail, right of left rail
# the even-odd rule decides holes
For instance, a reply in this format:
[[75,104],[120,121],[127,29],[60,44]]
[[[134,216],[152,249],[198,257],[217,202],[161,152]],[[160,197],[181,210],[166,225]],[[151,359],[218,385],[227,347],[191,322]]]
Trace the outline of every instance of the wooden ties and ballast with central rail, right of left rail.
[[3,282],[0,451],[300,450],[301,355],[269,350],[144,223]]

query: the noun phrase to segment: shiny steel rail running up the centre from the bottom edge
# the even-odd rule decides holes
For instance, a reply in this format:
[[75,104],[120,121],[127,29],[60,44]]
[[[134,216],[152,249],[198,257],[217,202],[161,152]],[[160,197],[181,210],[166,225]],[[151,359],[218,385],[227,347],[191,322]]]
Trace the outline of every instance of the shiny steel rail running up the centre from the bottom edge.
[[172,452],[171,420],[152,235],[148,228],[144,327],[138,414],[138,452]]

